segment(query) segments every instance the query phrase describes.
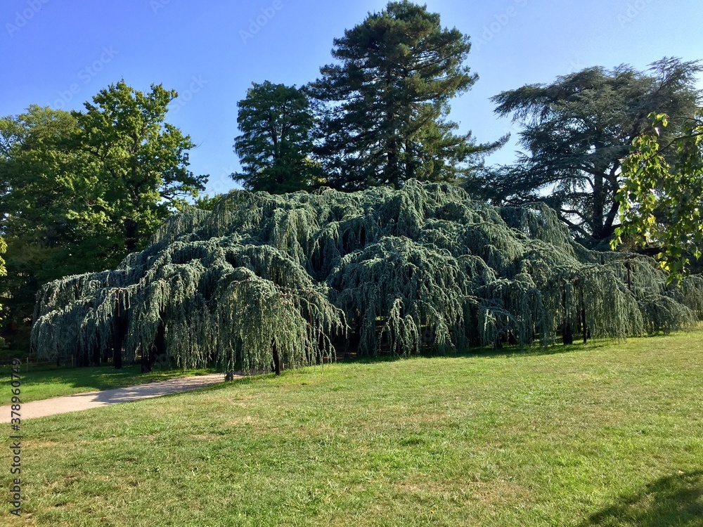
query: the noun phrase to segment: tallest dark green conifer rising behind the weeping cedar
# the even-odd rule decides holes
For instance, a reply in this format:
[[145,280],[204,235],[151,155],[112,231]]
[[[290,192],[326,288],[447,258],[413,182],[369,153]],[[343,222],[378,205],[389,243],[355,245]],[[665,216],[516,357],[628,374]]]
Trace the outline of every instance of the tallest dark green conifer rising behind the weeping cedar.
[[338,63],[309,86],[323,115],[317,153],[333,186],[450,181],[498,146],[453,133],[449,101],[477,79],[465,65],[470,43],[426,6],[391,2],[334,44]]

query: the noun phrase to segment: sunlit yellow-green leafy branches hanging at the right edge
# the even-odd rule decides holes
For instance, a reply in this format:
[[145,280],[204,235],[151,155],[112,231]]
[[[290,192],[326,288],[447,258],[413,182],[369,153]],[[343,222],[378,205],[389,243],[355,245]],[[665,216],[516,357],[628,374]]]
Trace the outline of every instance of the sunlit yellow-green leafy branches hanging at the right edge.
[[683,136],[667,141],[669,117],[651,114],[653,128],[633,140],[617,193],[622,225],[612,246],[635,240],[660,250],[669,282],[680,282],[690,258],[703,246],[703,109],[683,124]]

